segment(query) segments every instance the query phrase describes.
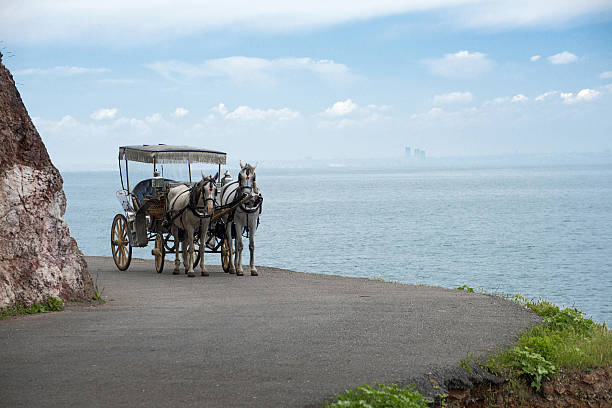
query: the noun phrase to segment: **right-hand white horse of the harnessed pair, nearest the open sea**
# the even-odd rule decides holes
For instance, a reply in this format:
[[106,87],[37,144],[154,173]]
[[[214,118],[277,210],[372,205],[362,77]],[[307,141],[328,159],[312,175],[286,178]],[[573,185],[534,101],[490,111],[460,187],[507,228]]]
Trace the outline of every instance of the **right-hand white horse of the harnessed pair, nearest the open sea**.
[[[259,225],[259,215],[261,214],[261,205],[263,197],[259,194],[257,181],[255,179],[255,168],[257,164],[242,165],[240,161],[240,173],[238,173],[238,181],[223,186],[221,190],[221,205],[228,205],[239,201],[244,194],[251,196],[251,200],[236,208],[231,216],[224,217],[225,222],[225,237],[229,243],[229,261],[230,273],[235,273],[238,276],[244,275],[242,271],[242,231],[247,227],[249,234],[249,251],[251,253],[250,268],[251,275],[257,276],[257,268],[255,267],[255,231]],[[236,251],[235,260],[232,261],[232,224],[236,231]]]

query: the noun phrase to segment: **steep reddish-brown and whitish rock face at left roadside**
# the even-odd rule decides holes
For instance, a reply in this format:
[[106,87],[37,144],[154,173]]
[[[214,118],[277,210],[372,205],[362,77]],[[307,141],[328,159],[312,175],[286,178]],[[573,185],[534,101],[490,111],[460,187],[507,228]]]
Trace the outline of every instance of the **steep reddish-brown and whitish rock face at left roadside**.
[[0,308],[94,295],[62,185],[0,54]]

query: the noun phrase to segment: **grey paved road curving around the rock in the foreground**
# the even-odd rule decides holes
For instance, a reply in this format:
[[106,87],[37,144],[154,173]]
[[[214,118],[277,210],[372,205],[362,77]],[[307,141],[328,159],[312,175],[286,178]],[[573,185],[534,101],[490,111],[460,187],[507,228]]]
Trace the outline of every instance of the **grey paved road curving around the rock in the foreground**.
[[1,406],[317,406],[363,383],[443,383],[467,352],[485,355],[536,321],[458,290],[87,261],[106,304],[0,321]]

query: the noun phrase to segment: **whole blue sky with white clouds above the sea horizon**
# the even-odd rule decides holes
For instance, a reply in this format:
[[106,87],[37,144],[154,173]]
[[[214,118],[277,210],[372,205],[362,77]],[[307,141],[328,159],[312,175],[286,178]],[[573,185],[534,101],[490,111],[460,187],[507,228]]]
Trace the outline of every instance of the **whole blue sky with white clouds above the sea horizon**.
[[612,0],[2,0],[0,52],[62,170],[612,149]]

